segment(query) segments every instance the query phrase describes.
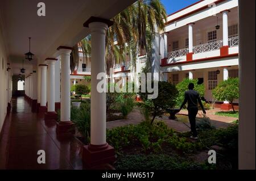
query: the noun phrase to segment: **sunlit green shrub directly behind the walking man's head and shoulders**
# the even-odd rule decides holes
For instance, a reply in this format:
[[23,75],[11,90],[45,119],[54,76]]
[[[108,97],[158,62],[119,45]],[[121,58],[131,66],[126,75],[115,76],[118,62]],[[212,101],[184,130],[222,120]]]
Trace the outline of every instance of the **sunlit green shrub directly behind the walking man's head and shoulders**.
[[185,91],[188,90],[189,83],[193,83],[195,85],[194,90],[199,92],[200,96],[204,96],[204,93],[205,93],[204,84],[198,85],[197,79],[184,78],[183,81],[181,81],[180,83],[178,83],[176,85],[177,91],[179,92],[179,94],[176,97],[176,103],[177,103],[176,106],[177,107],[180,107],[181,104],[183,103],[184,93],[185,93]]

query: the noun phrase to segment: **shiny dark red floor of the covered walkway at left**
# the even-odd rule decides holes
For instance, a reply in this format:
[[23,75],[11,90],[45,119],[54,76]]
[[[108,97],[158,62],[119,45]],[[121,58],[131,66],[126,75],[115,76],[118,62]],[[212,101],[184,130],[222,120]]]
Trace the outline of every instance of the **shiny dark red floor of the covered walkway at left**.
[[[56,122],[32,113],[30,104],[12,100],[0,141],[0,169],[83,169],[80,142],[72,135],[56,135]],[[9,127],[10,129],[9,129]],[[38,150],[46,151],[46,163],[39,164]]]

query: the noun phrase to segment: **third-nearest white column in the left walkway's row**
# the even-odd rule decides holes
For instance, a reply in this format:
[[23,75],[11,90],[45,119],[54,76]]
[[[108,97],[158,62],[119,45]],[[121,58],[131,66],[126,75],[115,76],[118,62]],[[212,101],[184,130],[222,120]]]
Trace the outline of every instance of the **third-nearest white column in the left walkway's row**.
[[47,60],[47,111],[55,112],[55,61]]

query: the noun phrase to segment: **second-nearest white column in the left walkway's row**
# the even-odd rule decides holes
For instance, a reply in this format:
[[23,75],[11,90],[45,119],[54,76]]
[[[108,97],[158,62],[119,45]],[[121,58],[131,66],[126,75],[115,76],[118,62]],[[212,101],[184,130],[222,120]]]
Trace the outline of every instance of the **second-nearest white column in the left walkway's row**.
[[61,86],[60,121],[70,121],[70,49],[60,49]]

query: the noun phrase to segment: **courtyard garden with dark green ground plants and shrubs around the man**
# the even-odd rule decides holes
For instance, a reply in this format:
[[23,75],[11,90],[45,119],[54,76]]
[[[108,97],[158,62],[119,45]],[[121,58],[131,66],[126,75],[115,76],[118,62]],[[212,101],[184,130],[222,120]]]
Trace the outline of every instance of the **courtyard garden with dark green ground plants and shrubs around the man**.
[[[133,110],[138,110],[142,117],[138,124],[107,129],[107,142],[115,148],[117,157],[117,161],[113,163],[115,169],[237,169],[238,120],[230,123],[227,128],[216,128],[207,116],[198,118],[196,122],[199,140],[192,140],[189,131],[178,132],[160,120],[168,116],[168,108],[180,106],[184,94],[180,92],[187,89],[189,82],[195,81],[184,79],[177,86],[159,82],[158,98],[147,99],[149,93],[139,93],[141,102],[135,102],[134,93],[106,93],[107,125],[110,122],[117,123],[115,120],[129,120],[129,114]],[[195,85],[200,95],[204,95],[204,85],[197,85],[196,82]],[[79,93],[83,94],[89,94],[86,87]],[[80,96],[71,102],[81,103],[79,107],[71,106],[71,120],[76,127],[76,137],[84,145],[89,144],[90,99],[81,99]],[[211,108],[209,103],[203,104],[207,110]],[[223,112],[222,115],[230,116],[236,113],[230,111]],[[221,113],[216,112],[217,114]],[[176,121],[183,122],[179,119]],[[186,124],[187,116],[184,116],[183,123],[189,128],[189,124]],[[216,164],[208,163],[208,151],[212,149],[217,153]]]

